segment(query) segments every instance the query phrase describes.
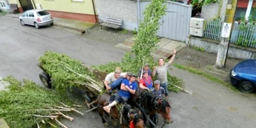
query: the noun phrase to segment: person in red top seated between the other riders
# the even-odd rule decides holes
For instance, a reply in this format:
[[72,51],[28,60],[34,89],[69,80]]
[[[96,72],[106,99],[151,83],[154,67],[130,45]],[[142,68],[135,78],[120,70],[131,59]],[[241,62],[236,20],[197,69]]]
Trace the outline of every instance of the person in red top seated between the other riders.
[[150,91],[153,88],[152,78],[148,76],[147,72],[144,71],[142,74],[142,79],[139,84],[140,89]]

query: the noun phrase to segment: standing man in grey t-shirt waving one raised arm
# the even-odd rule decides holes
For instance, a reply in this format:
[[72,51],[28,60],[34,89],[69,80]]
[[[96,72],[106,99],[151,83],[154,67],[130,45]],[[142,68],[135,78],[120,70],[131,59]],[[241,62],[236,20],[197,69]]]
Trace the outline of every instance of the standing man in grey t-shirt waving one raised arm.
[[168,99],[167,72],[168,72],[168,68],[170,67],[170,65],[174,61],[175,54],[176,54],[176,49],[174,49],[174,54],[173,54],[172,58],[170,58],[170,60],[167,63],[164,63],[164,59],[163,58],[159,58],[158,66],[154,67],[153,68],[153,72],[152,72],[152,77],[157,75],[157,80],[160,81],[160,87],[164,88],[166,100]]

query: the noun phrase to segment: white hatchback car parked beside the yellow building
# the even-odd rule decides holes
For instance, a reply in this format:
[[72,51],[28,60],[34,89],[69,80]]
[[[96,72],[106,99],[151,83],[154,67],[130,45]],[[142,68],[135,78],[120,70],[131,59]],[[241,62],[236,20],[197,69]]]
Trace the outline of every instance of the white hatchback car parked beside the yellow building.
[[28,10],[22,16],[19,16],[19,21],[23,26],[33,25],[37,29],[40,26],[53,25],[53,17],[45,9]]

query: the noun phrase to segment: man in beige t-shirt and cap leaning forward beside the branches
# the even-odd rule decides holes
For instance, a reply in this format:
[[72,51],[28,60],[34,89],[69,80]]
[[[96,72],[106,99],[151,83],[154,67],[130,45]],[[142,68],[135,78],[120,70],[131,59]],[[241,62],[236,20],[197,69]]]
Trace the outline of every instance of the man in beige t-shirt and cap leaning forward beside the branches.
[[[116,67],[115,72],[106,75],[104,80],[104,86],[106,90],[111,90],[121,84],[122,80],[126,78],[126,73],[121,72],[120,67]],[[112,87],[112,88],[111,88]]]

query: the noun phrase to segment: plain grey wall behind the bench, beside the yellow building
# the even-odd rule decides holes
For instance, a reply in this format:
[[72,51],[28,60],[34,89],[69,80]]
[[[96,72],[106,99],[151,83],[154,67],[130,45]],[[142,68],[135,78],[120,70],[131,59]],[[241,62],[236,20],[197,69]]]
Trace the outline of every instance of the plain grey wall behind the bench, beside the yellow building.
[[105,17],[120,18],[123,20],[123,29],[137,30],[138,13],[137,1],[131,0],[97,0],[95,1],[99,21]]

